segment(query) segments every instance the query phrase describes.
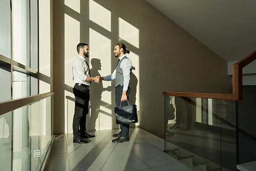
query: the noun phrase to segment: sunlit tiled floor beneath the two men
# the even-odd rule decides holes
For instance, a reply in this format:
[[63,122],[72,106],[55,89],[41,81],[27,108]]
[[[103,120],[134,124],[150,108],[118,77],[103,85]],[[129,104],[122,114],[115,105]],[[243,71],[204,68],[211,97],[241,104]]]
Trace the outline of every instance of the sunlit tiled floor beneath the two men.
[[191,170],[163,151],[164,140],[139,127],[130,128],[130,141],[113,143],[118,130],[89,132],[87,144],[73,143],[72,134],[55,136],[47,170]]

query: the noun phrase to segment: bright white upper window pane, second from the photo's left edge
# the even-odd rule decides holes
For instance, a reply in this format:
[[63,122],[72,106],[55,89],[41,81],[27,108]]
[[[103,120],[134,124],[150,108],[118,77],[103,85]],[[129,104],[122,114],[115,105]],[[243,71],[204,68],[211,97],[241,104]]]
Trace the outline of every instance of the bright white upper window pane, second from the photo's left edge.
[[13,0],[13,60],[30,67],[28,0]]

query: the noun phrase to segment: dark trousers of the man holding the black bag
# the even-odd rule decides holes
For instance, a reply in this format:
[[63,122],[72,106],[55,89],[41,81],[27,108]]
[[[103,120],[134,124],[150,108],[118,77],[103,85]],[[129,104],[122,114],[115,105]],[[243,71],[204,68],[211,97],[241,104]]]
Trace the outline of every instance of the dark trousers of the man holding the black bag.
[[[126,92],[127,99],[129,99],[130,92],[131,92],[131,89],[130,87],[128,87],[128,90]],[[116,106],[120,106],[122,93],[123,93],[123,86],[119,86],[118,88],[116,88],[116,91],[115,91]],[[128,105],[127,100],[122,101],[122,106],[123,105]],[[121,129],[121,136],[129,137],[130,124],[120,124],[120,129]]]

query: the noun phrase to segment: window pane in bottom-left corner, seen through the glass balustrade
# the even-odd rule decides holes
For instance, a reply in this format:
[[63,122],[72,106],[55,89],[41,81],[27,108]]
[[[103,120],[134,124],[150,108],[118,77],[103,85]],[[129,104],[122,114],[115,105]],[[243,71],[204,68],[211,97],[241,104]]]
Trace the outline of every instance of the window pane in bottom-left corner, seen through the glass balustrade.
[[11,170],[12,166],[12,112],[0,116],[0,166]]

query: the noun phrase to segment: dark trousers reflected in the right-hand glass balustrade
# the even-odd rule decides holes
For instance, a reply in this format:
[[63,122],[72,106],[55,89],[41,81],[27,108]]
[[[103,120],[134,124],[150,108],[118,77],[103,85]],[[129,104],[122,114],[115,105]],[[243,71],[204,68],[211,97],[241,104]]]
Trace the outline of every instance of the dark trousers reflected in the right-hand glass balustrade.
[[[184,98],[184,99],[183,99]],[[180,124],[181,122],[181,108],[182,108],[182,101],[185,104],[185,108],[187,111],[187,126],[191,127],[191,122],[192,122],[192,108],[191,108],[191,103],[189,103],[189,101],[191,101],[191,99],[187,98],[187,97],[175,97],[175,105],[176,105],[176,123]]]

